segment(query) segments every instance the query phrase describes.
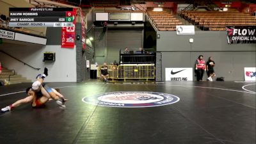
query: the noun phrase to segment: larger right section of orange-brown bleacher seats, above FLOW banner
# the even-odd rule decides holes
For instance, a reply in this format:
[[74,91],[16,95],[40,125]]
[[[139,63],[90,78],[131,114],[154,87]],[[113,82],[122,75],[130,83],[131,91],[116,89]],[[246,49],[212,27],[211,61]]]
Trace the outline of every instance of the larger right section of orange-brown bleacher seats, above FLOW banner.
[[256,19],[249,13],[238,11],[186,11],[182,12],[184,19],[195,24],[202,30],[224,31],[225,26],[255,26]]

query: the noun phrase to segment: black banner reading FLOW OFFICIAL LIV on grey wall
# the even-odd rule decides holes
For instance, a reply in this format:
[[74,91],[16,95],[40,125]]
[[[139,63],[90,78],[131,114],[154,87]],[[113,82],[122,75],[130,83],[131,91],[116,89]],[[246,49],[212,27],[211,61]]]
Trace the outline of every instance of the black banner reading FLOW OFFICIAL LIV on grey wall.
[[256,26],[226,26],[228,44],[256,43]]

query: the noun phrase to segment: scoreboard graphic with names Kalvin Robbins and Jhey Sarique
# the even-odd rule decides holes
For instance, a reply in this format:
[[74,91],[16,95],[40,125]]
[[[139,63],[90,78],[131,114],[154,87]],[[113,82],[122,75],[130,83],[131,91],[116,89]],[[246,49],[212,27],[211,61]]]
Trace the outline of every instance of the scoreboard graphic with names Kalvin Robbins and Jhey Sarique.
[[73,8],[9,8],[10,27],[72,27]]

